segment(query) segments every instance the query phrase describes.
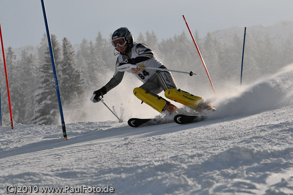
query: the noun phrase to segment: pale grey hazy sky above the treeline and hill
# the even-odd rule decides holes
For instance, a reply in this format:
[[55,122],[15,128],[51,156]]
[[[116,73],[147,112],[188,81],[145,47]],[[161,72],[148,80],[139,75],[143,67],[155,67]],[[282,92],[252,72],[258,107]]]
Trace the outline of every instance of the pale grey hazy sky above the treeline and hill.
[[[232,26],[293,21],[293,0],[44,0],[49,30],[72,44],[108,38],[126,26],[134,38],[154,31],[159,40],[185,31],[207,32]],[[4,48],[37,45],[45,33],[41,0],[0,0]],[[188,33],[189,36],[189,33]]]

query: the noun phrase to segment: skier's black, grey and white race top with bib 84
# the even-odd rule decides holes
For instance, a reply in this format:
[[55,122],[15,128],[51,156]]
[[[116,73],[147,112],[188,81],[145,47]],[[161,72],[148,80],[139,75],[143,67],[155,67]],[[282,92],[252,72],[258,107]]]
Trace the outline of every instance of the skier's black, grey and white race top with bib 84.
[[[113,78],[105,85],[107,91],[111,90],[112,88],[116,87],[123,79],[125,72],[119,72],[117,67],[119,64],[125,59],[132,59],[134,63],[138,65],[144,65],[148,67],[158,67],[158,68],[166,68],[160,61],[158,61],[154,57],[154,53],[150,50],[146,44],[144,43],[134,43],[133,47],[129,49],[128,53],[123,54],[120,53],[115,66],[115,73]],[[128,70],[134,74],[139,80],[145,83],[149,78],[151,78],[155,73],[156,70],[154,69],[143,69],[143,68],[132,68]]]

